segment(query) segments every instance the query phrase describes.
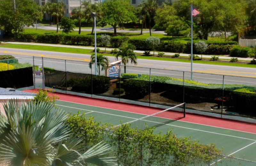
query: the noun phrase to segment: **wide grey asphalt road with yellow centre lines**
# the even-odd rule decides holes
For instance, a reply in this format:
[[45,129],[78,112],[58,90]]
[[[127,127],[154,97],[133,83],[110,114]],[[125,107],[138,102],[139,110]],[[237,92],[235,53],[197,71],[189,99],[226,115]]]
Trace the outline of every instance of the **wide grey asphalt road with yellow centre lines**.
[[[36,65],[42,64],[43,56],[45,67],[62,71],[65,71],[66,60],[66,70],[69,72],[94,73],[94,68],[92,67],[91,70],[88,67],[91,56],[88,54],[0,48],[0,55],[3,54],[9,54],[17,58],[22,58],[19,60],[19,62],[28,62],[30,64],[33,64],[34,56]],[[110,62],[116,61],[114,57],[108,58]],[[184,72],[185,79],[190,79],[190,63],[138,59],[138,64],[136,66],[133,64],[128,65],[129,66],[126,67],[127,73],[149,74],[151,72],[152,75],[183,78]],[[151,70],[149,68],[151,68]],[[121,72],[124,72],[124,67],[122,67]],[[256,68],[194,63],[193,72],[196,72],[193,73],[193,79],[204,83],[222,84],[222,75],[227,75],[224,76],[225,84],[256,86]],[[104,74],[104,71],[102,71],[101,74]]]

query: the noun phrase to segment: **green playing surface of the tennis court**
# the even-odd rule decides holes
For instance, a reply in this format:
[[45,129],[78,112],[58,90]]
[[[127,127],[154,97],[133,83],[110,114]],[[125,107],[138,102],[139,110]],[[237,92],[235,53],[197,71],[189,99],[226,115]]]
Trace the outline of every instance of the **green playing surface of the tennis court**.
[[[56,101],[56,105],[66,110],[67,112],[85,112],[88,116],[95,117],[95,120],[99,122],[111,123],[113,125],[130,122],[132,120],[147,116],[143,114],[136,114],[131,112],[88,106],[84,104],[64,102],[59,100]],[[167,120],[166,118],[154,117],[154,122],[156,124],[162,124],[164,121],[166,122]],[[159,127],[156,127],[155,132],[158,133],[162,131],[163,133],[165,133],[168,130],[172,130],[177,137],[191,137],[192,140],[197,140],[203,144],[215,144],[218,148],[223,149],[225,155],[254,161],[231,161],[229,158],[224,158],[217,164],[213,163],[212,165],[256,166],[256,134],[202,124],[189,123],[179,120],[172,121],[167,124],[162,124]]]

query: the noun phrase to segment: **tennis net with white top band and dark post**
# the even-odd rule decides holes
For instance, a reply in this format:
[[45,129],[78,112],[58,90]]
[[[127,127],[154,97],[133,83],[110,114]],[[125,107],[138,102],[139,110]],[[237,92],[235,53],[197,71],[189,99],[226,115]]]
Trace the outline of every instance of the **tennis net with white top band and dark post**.
[[[154,114],[126,122],[124,124],[130,124],[132,128],[144,130],[147,127],[160,127],[164,124],[171,123],[186,117],[186,103],[181,103],[174,107],[164,109]],[[118,127],[122,124],[116,125]]]

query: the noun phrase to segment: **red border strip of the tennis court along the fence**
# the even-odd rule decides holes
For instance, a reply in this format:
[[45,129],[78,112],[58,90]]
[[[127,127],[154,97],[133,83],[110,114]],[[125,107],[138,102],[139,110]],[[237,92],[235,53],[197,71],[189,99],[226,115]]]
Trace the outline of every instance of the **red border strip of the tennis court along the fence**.
[[[24,91],[36,92],[35,90],[24,90]],[[59,94],[59,93],[56,95],[59,96],[60,97],[59,100],[62,100],[62,101],[103,107],[108,109],[122,110],[126,112],[139,113],[139,114],[145,114],[145,115],[151,115],[160,110],[157,108],[149,108],[149,107],[144,107],[139,105],[125,104],[123,102],[119,103],[119,102],[112,102],[112,101],[106,101],[106,100],[101,101],[100,99],[87,98],[83,96],[79,97],[79,96]],[[166,115],[164,115],[164,117],[172,118]],[[190,115],[190,114],[187,114],[185,118],[179,119],[179,121],[190,122],[195,124],[203,124],[203,125],[208,125],[213,127],[220,127],[225,129],[237,130],[242,132],[250,132],[250,133],[256,134],[256,124],[247,124],[247,123],[236,122],[232,120],[218,119],[214,117],[204,117],[200,115]]]

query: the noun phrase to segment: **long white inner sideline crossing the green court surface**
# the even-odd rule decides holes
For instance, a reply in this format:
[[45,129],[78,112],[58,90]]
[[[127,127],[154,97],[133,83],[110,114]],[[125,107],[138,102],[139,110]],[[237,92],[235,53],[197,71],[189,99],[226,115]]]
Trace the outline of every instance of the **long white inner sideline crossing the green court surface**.
[[[69,107],[69,106],[64,106],[64,105],[59,105],[59,104],[55,104],[58,106],[63,106],[63,107],[68,107],[68,108],[74,108],[74,109],[80,109],[80,108],[75,108],[75,107]],[[80,110],[86,110],[86,111],[91,111],[88,109],[80,109]],[[93,112],[98,112],[98,111],[93,111]],[[107,115],[114,115],[117,117],[125,117],[125,118],[131,118],[131,119],[137,119],[137,118],[132,118],[132,117],[126,117],[126,116],[121,116],[121,115],[115,115],[115,114],[109,114],[109,113],[105,113],[105,112],[98,112],[98,113],[102,113],[102,114],[107,114]],[[136,114],[136,113],[135,113]],[[159,117],[161,118],[161,117]],[[169,118],[165,118],[165,119],[169,119]],[[139,120],[139,119],[137,119]],[[153,122],[153,123],[158,123],[158,124],[164,124],[164,123],[160,123],[160,122],[154,122],[154,121],[149,121],[149,120],[144,120],[143,121],[147,121],[147,122]],[[169,119],[171,120],[171,119]],[[183,121],[182,121],[183,122]],[[177,125],[172,125],[172,124],[166,124],[169,126],[174,126],[174,127],[180,127],[180,128],[184,128],[184,129],[190,129],[190,130],[195,130],[195,131],[200,131],[200,132],[208,132],[208,133],[212,133],[212,134],[218,134],[218,135],[224,135],[224,136],[228,136],[228,137],[234,137],[234,138],[240,138],[240,139],[244,139],[244,140],[252,140],[252,139],[248,139],[248,138],[243,138],[243,137],[237,137],[237,136],[232,136],[232,135],[227,135],[227,134],[221,134],[221,133],[217,133],[217,132],[209,132],[209,131],[204,131],[204,130],[199,130],[199,129],[193,129],[193,128],[188,128],[188,127],[182,127],[182,126],[177,126]],[[252,141],[256,141],[256,140],[252,140]]]

